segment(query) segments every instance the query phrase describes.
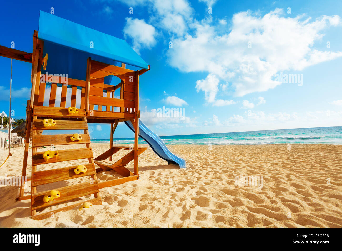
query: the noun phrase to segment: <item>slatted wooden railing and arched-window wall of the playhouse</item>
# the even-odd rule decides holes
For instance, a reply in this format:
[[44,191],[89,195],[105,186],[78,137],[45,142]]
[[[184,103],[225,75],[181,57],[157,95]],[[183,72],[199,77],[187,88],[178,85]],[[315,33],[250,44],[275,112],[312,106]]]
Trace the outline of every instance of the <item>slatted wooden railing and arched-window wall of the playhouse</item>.
[[[52,80],[47,75],[41,75],[37,105],[81,108],[88,110],[88,115],[94,117],[133,118],[136,107],[137,72],[93,60],[90,69],[88,97],[87,81],[69,78],[68,83],[64,84],[62,78]],[[104,78],[109,75],[117,76],[121,79],[120,83],[104,84]],[[45,93],[48,86],[51,86],[49,99],[48,94]],[[71,96],[68,94],[68,88],[71,88]],[[115,98],[118,89],[120,89],[120,98]]]

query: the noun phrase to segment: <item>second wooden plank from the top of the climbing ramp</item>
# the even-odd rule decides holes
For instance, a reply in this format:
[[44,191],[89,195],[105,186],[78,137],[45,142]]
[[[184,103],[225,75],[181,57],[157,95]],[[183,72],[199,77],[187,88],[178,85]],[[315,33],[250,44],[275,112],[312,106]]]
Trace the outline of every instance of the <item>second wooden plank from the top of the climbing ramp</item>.
[[44,127],[43,120],[33,120],[33,130],[87,130],[86,121],[80,120],[55,120],[54,126]]

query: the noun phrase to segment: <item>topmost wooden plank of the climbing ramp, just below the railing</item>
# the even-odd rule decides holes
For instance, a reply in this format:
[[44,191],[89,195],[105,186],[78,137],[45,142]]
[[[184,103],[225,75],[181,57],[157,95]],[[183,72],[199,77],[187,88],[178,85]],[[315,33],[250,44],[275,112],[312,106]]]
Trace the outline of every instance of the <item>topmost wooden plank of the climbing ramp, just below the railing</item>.
[[64,107],[47,107],[47,106],[34,106],[33,114],[36,116],[46,117],[85,117],[86,111],[78,109],[78,113],[69,114],[68,108]]

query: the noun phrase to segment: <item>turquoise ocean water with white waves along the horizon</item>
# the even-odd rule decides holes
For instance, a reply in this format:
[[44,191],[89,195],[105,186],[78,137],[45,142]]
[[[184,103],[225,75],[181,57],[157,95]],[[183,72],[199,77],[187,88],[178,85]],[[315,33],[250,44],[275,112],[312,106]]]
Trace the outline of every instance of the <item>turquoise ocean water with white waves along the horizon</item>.
[[[165,144],[213,144],[213,145],[259,145],[259,144],[342,144],[342,126],[282,129],[267,131],[244,131],[175,135],[160,137]],[[110,139],[94,139],[92,143],[109,143]],[[114,144],[133,144],[134,138],[114,139]],[[146,142],[139,138],[139,144]]]

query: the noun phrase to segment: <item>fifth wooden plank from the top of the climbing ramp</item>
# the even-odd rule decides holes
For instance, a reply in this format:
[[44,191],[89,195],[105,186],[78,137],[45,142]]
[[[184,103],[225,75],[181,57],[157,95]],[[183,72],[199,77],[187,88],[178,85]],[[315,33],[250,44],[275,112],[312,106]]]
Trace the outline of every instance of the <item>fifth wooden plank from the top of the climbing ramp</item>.
[[75,168],[77,168],[78,165],[35,172],[34,175],[32,175],[32,185],[39,186],[57,181],[69,180],[96,174],[94,163],[83,165],[87,168],[86,173],[81,172],[79,174],[75,174],[74,170]]

